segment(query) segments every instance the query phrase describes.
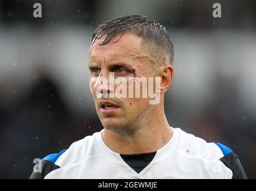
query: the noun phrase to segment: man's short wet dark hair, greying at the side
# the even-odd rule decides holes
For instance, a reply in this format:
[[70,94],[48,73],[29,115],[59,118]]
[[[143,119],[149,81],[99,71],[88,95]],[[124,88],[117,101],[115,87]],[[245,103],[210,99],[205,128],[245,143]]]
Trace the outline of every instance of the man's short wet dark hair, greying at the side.
[[106,37],[99,45],[106,45],[115,35],[123,35],[124,32],[141,37],[142,48],[150,53],[154,62],[173,65],[174,47],[170,33],[156,20],[147,16],[122,16],[105,21],[93,33],[92,45],[103,35]]

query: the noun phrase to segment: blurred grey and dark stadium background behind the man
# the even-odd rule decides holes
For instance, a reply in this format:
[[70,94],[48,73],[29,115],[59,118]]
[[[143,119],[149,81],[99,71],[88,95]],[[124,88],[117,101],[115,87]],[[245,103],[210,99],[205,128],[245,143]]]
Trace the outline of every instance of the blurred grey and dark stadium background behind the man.
[[126,14],[150,16],[172,35],[170,125],[230,146],[256,178],[256,2],[242,0],[0,0],[0,178],[28,178],[34,158],[102,129],[88,50],[98,24]]

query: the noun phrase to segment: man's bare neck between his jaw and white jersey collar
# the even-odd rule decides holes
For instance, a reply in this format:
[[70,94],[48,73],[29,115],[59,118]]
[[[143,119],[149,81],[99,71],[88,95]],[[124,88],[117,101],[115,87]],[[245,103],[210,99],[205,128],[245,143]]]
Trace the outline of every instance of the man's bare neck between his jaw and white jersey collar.
[[[163,108],[163,107],[162,107]],[[136,133],[124,135],[112,130],[103,130],[102,138],[106,146],[120,154],[155,152],[172,138],[164,110],[153,110],[147,119],[142,119]],[[154,116],[154,117],[153,117]]]

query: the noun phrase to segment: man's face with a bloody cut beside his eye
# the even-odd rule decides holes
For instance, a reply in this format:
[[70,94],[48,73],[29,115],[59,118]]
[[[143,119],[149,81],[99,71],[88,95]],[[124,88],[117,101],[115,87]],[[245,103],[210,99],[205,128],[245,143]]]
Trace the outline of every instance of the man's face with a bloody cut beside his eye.
[[[147,54],[141,48],[142,39],[138,36],[124,33],[123,36],[115,36],[106,45],[99,45],[104,39],[105,36],[97,39],[90,48],[89,54],[90,88],[95,100],[97,115],[103,127],[108,130],[121,132],[134,130],[139,121],[147,117],[154,107],[149,104],[149,98],[142,98],[142,92],[140,98],[134,96],[132,98],[128,96],[127,98],[102,98],[96,96],[96,90],[102,85],[103,78],[107,79],[110,84],[109,73],[114,72],[115,79],[123,77],[127,83],[115,84],[114,87],[102,85],[105,92],[113,93],[117,87],[122,86],[128,93],[129,81],[133,83],[135,77],[154,76],[154,71]],[[97,82],[92,79],[96,79]]]

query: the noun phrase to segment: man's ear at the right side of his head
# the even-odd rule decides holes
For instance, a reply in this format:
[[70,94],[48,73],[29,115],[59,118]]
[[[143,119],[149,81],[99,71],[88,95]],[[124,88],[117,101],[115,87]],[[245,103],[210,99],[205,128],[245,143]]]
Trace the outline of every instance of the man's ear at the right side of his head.
[[170,65],[161,66],[159,68],[159,76],[161,77],[160,93],[163,94],[169,90],[172,85],[174,69]]

